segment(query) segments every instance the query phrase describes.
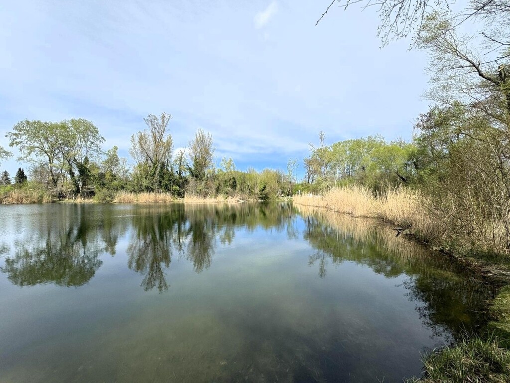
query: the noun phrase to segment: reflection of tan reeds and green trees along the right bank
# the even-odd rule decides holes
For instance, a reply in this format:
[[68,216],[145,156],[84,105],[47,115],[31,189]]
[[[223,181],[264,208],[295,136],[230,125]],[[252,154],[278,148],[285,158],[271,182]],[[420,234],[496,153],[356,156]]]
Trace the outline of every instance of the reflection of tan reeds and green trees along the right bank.
[[416,302],[423,323],[439,335],[476,331],[487,320],[491,286],[466,278],[460,266],[422,246],[395,237],[389,228],[342,214],[300,207],[306,226],[304,238],[317,251],[309,264],[326,276],[332,266],[352,261],[388,278],[405,274],[407,296]]

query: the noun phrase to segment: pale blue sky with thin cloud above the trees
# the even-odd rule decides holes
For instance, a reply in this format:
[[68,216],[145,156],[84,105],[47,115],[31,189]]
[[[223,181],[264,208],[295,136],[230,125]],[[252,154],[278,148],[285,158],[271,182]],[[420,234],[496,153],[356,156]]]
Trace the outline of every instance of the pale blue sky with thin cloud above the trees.
[[143,117],[161,111],[176,148],[202,128],[217,162],[241,170],[301,163],[320,130],[328,143],[409,139],[427,107],[425,54],[409,40],[380,49],[375,10],[334,6],[315,26],[328,3],[2,2],[0,145],[21,119],[83,117],[127,156]]

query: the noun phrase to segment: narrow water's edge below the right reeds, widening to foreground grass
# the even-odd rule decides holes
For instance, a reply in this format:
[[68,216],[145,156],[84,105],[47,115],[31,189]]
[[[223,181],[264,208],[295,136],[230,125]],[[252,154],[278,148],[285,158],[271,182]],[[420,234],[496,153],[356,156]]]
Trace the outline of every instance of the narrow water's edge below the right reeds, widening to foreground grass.
[[[411,229],[402,229],[397,222],[384,220],[378,217],[377,214],[353,214],[340,211],[330,207],[327,201],[324,201],[324,198],[317,198],[317,202],[319,202],[317,204],[303,203],[304,201],[300,202],[299,199],[294,200],[293,204],[325,210],[351,217],[352,219],[369,219],[378,226],[391,227],[400,233],[403,230]],[[403,233],[403,237],[406,238],[406,241],[411,241],[448,257],[452,263],[465,268],[475,278],[479,278],[481,283],[488,283],[496,289],[494,298],[487,302],[486,326],[481,328],[474,337],[468,337],[466,334],[464,339],[454,344],[444,345],[439,349],[424,354],[424,375],[422,377],[411,377],[405,379],[405,381],[408,383],[457,381],[452,380],[452,374],[454,374],[452,369],[455,368],[469,371],[464,377],[472,381],[480,381],[478,374],[481,373],[479,371],[483,370],[483,368],[487,369],[487,365],[490,366],[488,367],[489,369],[494,369],[494,371],[490,371],[490,374],[501,374],[504,379],[501,381],[509,381],[507,380],[510,379],[508,370],[504,370],[504,367],[502,369],[497,367],[501,365],[501,361],[510,360],[510,271],[508,271],[507,262],[499,262],[498,264],[497,262],[489,262],[486,257],[475,259],[454,250],[440,249],[431,243],[423,241],[419,235],[412,231]]]

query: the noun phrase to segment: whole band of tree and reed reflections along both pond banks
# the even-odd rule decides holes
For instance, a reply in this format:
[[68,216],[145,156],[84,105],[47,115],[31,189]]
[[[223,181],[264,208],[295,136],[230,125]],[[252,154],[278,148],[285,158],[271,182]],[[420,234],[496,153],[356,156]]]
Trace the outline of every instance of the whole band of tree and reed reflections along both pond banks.
[[[288,204],[236,205],[56,205],[41,209],[38,219],[20,218],[24,236],[3,243],[1,271],[16,285],[55,283],[80,286],[102,264],[100,256],[116,253],[129,231],[127,266],[143,275],[144,290],[169,289],[172,257],[186,259],[196,273],[211,267],[217,246],[230,246],[236,231],[303,236],[314,252],[309,265],[327,278],[328,265],[356,262],[387,278],[405,274],[404,287],[423,322],[457,336],[486,320],[486,301],[493,291],[459,274],[450,260],[395,238],[390,229],[370,221]],[[304,223],[304,229],[297,222]],[[23,221],[25,220],[25,221]],[[480,312],[478,315],[476,312]]]

